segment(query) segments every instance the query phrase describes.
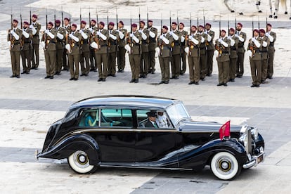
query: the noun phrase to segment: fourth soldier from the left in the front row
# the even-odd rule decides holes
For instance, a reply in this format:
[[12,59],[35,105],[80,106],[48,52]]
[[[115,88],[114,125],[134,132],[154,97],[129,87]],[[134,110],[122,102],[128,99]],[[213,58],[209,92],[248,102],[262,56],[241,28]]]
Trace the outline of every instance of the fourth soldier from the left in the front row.
[[104,29],[104,22],[99,22],[98,31],[94,32],[91,38],[91,47],[95,48],[99,79],[98,82],[105,82],[108,70],[108,30]]

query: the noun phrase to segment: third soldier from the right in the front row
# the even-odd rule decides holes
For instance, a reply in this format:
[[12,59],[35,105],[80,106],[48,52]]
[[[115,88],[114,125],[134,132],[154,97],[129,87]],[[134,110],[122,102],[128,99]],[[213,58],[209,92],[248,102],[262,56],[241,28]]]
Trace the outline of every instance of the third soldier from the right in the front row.
[[191,32],[186,37],[185,52],[188,56],[190,84],[199,84],[200,80],[200,42],[202,37],[196,32],[197,27],[191,26]]

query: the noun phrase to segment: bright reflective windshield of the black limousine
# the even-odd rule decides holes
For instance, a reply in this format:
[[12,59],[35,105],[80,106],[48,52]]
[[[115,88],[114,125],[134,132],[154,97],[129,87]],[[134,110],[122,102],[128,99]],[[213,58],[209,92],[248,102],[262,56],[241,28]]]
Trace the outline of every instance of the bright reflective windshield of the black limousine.
[[190,115],[188,114],[183,103],[177,103],[170,106],[169,108],[167,108],[167,113],[175,127],[176,127],[176,124],[178,124],[178,122],[181,119],[190,118]]

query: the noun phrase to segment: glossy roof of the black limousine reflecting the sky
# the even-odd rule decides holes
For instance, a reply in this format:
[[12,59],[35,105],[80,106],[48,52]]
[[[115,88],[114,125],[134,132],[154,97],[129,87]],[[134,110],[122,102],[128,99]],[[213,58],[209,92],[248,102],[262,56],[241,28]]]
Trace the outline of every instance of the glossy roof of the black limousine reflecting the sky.
[[156,96],[133,96],[133,95],[112,95],[112,96],[94,96],[85,98],[82,101],[73,103],[70,108],[82,108],[98,105],[117,105],[141,108],[167,108],[174,103],[181,101],[172,98],[162,98]]

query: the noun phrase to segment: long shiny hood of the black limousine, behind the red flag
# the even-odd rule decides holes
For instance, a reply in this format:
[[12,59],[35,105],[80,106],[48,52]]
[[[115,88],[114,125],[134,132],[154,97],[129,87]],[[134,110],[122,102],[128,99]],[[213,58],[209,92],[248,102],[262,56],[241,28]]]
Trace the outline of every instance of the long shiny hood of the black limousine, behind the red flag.
[[[183,132],[219,132],[223,124],[217,122],[196,122],[192,120],[182,120],[178,124],[178,130]],[[231,124],[231,132],[240,132],[241,126]]]

